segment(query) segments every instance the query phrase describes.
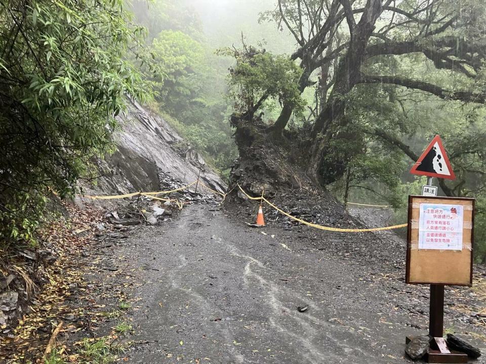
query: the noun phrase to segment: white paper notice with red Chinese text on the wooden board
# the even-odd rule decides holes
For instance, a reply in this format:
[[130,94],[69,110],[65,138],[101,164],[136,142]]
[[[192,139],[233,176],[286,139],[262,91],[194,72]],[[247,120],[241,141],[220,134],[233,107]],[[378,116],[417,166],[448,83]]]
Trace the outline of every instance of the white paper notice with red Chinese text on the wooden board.
[[463,205],[420,204],[419,249],[462,250]]

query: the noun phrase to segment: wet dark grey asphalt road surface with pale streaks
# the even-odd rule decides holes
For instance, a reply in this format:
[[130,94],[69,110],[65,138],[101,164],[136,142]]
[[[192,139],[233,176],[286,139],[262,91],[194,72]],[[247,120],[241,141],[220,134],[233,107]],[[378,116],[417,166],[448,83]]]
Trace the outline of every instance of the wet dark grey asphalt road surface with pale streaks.
[[211,209],[193,205],[139,229],[119,252],[143,267],[129,362],[408,362],[405,336],[419,331],[360,279],[362,267],[302,249],[294,232],[248,228]]

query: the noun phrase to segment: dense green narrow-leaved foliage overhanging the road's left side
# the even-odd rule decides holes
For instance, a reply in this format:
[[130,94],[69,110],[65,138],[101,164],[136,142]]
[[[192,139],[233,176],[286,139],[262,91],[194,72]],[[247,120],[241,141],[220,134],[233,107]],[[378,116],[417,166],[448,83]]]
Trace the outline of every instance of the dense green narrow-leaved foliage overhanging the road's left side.
[[121,0],[0,1],[0,20],[0,241],[31,241],[49,189],[110,150],[126,95],[147,101],[126,57],[143,29]]

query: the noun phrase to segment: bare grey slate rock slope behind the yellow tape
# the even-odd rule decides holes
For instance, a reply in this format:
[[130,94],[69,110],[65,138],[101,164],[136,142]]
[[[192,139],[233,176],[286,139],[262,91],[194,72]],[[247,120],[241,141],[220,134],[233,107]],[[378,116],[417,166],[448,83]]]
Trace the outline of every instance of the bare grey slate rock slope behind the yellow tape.
[[93,185],[82,183],[86,194],[164,190],[192,183],[200,168],[203,183],[225,192],[226,185],[218,174],[159,115],[130,101],[118,121],[121,129],[114,136],[116,152],[97,161],[101,176]]

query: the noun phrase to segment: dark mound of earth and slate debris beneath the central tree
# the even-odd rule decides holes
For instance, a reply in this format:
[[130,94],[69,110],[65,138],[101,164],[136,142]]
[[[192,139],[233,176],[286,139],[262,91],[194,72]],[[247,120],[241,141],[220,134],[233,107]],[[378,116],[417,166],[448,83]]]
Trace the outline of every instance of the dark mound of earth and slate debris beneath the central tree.
[[[334,228],[363,228],[362,223],[350,216],[331,194],[313,181],[300,167],[301,155],[290,148],[282,136],[275,141],[266,134],[264,125],[256,121],[232,119],[235,123],[235,141],[239,158],[233,164],[225,206],[244,216],[255,214],[255,201],[244,203],[248,198],[238,185],[253,197],[264,197],[285,212],[305,221]],[[265,203],[265,218],[284,228],[300,225],[300,222],[280,214]]]

